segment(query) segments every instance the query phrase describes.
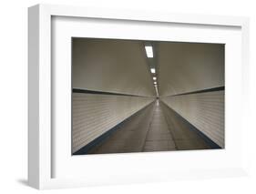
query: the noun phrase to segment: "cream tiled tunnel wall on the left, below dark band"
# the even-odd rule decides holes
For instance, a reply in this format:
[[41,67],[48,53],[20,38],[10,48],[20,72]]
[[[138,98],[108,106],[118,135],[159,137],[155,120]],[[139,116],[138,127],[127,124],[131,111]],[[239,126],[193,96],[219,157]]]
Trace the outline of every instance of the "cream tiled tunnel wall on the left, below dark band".
[[153,100],[152,97],[73,93],[73,153]]

